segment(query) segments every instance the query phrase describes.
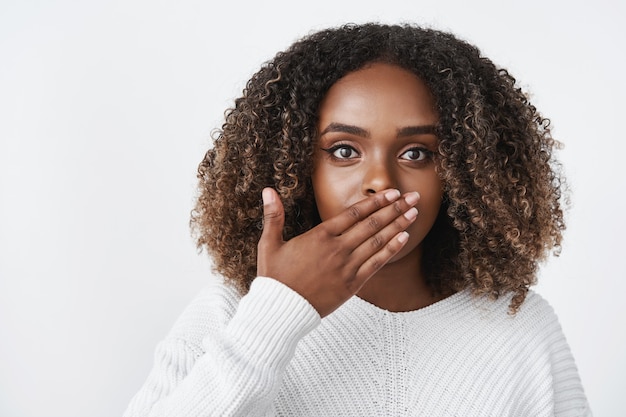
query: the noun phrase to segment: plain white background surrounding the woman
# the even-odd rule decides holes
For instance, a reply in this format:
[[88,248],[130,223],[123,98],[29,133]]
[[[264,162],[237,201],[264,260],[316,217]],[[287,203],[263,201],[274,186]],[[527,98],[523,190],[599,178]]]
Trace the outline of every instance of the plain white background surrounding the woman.
[[595,414],[623,415],[625,17],[609,0],[1,0],[0,416],[123,412],[209,276],[188,218],[212,129],[275,52],[368,20],[457,33],[552,119],[573,206],[538,291]]

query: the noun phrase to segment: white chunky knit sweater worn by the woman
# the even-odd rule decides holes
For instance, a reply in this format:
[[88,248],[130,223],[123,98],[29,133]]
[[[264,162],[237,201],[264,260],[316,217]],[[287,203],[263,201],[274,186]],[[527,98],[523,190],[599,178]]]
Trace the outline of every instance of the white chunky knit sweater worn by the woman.
[[125,417],[590,416],[547,302],[456,293],[394,313],[352,297],[320,319],[258,277],[215,282],[158,345]]

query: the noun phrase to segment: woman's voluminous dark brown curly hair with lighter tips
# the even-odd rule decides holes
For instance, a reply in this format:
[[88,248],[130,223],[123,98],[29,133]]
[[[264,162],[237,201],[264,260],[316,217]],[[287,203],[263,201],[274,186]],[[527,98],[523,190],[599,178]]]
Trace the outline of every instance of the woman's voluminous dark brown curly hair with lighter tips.
[[514,313],[538,262],[560,249],[564,180],[550,123],[480,51],[413,25],[345,25],[294,43],[248,81],[198,168],[191,224],[214,268],[245,293],[256,276],[261,191],[285,206],[284,238],[320,222],[311,172],[320,102],[346,74],[384,62],[430,88],[439,113],[439,216],[424,240],[436,293],[512,293]]

